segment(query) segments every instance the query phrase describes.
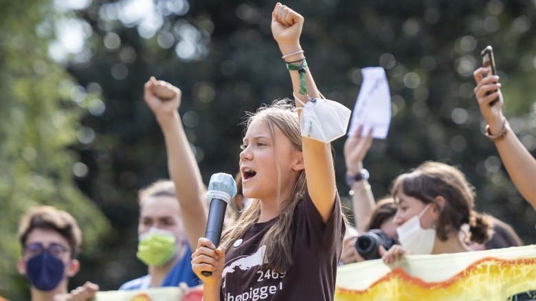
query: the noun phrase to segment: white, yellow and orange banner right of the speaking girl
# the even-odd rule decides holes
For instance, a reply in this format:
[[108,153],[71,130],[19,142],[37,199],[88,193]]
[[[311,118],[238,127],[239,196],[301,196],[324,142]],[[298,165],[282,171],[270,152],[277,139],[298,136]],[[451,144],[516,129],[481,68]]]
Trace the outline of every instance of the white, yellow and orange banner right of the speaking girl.
[[344,265],[335,300],[508,300],[517,293],[536,300],[535,290],[536,245],[528,245]]

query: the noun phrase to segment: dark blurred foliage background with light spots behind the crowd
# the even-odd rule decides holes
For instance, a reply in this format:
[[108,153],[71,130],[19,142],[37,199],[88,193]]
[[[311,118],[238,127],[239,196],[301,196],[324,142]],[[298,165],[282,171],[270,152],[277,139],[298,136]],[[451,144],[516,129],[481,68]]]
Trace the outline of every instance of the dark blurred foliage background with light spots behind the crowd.
[[[27,298],[16,274],[19,218],[50,204],[80,221],[85,280],[103,290],[146,271],[135,258],[136,191],[168,177],[155,119],[142,100],[149,76],[183,91],[180,113],[203,179],[238,170],[244,111],[291,96],[270,32],[275,1],[0,1],[0,286]],[[147,2],[146,2],[147,3]],[[305,16],[302,47],[324,95],[353,108],[361,67],[384,67],[392,92],[388,139],[364,162],[376,197],[425,160],[456,164],[476,186],[477,209],[535,243],[535,210],[517,192],[483,135],[472,71],[493,45],[506,116],[536,148],[535,2],[342,1],[284,3]],[[143,17],[155,16],[144,23]],[[82,22],[85,47],[53,60],[55,24]],[[149,25],[149,26],[148,26]],[[148,29],[149,28],[149,29]],[[335,165],[345,195],[342,145]],[[185,175],[186,176],[186,175]],[[345,199],[348,201],[348,199]],[[349,205],[349,203],[348,203]]]

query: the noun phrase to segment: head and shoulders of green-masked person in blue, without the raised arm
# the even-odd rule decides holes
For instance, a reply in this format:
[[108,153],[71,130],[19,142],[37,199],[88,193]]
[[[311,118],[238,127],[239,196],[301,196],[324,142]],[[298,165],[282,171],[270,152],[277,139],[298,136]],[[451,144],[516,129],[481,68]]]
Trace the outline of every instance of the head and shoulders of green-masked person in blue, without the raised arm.
[[159,180],[140,190],[139,205],[136,256],[148,266],[148,274],[126,282],[120,290],[177,287],[180,282],[199,285],[174,183]]

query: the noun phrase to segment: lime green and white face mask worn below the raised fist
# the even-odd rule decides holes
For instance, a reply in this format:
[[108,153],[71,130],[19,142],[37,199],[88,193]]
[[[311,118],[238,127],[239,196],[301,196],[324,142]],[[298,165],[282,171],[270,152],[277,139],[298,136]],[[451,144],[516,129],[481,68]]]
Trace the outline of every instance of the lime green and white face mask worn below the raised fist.
[[137,258],[149,266],[168,263],[177,250],[177,238],[168,230],[153,228],[139,236]]

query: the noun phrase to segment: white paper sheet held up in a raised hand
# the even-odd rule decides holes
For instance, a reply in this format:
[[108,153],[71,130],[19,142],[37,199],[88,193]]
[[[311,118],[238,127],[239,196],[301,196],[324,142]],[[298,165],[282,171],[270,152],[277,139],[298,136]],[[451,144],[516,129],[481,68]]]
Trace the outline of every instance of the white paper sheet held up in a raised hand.
[[391,123],[391,93],[382,67],[361,69],[363,82],[350,121],[348,136],[363,124],[363,135],[372,128],[372,137],[386,139]]

